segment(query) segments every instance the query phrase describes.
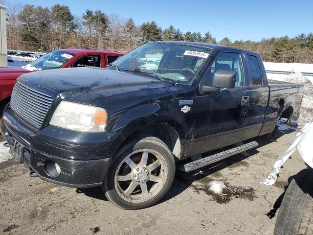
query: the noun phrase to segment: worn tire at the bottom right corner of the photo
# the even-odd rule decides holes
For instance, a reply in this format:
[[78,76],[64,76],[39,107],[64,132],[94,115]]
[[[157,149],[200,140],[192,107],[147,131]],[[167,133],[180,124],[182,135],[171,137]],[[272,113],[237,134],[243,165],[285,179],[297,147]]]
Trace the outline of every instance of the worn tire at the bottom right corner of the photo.
[[278,212],[274,235],[313,235],[311,180],[307,179],[300,188],[292,179]]

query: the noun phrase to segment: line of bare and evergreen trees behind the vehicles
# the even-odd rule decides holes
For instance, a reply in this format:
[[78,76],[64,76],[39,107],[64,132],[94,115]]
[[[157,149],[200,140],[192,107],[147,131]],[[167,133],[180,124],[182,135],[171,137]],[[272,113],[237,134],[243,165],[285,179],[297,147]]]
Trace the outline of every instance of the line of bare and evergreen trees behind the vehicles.
[[272,37],[261,41],[217,41],[207,31],[181,32],[170,25],[162,29],[155,21],[135,24],[132,18],[108,16],[101,10],[86,10],[73,16],[66,5],[50,8],[34,5],[9,5],[7,45],[9,49],[51,51],[79,47],[127,52],[151,41],[189,41],[238,47],[259,53],[264,61],[283,63],[313,63],[313,33]]

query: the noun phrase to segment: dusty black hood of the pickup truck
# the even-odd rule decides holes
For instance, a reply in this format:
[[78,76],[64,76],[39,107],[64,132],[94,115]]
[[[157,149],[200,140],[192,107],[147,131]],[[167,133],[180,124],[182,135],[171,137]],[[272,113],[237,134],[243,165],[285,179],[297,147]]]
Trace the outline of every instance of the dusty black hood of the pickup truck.
[[32,72],[18,81],[45,94],[84,104],[112,95],[174,85],[154,77],[95,67]]

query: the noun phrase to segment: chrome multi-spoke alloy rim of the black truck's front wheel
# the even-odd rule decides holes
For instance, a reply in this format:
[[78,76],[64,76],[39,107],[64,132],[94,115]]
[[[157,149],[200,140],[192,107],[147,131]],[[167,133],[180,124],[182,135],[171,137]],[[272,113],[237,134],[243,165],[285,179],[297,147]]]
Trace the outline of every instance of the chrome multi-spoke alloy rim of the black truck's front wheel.
[[138,149],[118,165],[114,188],[129,202],[145,202],[157,195],[168,174],[165,159],[153,149]]

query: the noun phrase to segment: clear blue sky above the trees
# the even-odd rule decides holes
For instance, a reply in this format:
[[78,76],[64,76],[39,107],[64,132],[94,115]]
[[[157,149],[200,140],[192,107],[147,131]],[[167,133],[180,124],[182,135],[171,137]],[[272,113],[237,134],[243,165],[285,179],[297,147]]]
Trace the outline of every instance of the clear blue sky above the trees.
[[81,16],[87,9],[133,18],[137,25],[156,21],[186,31],[210,33],[219,41],[259,41],[313,32],[313,0],[0,0],[2,3],[51,7],[67,5]]

